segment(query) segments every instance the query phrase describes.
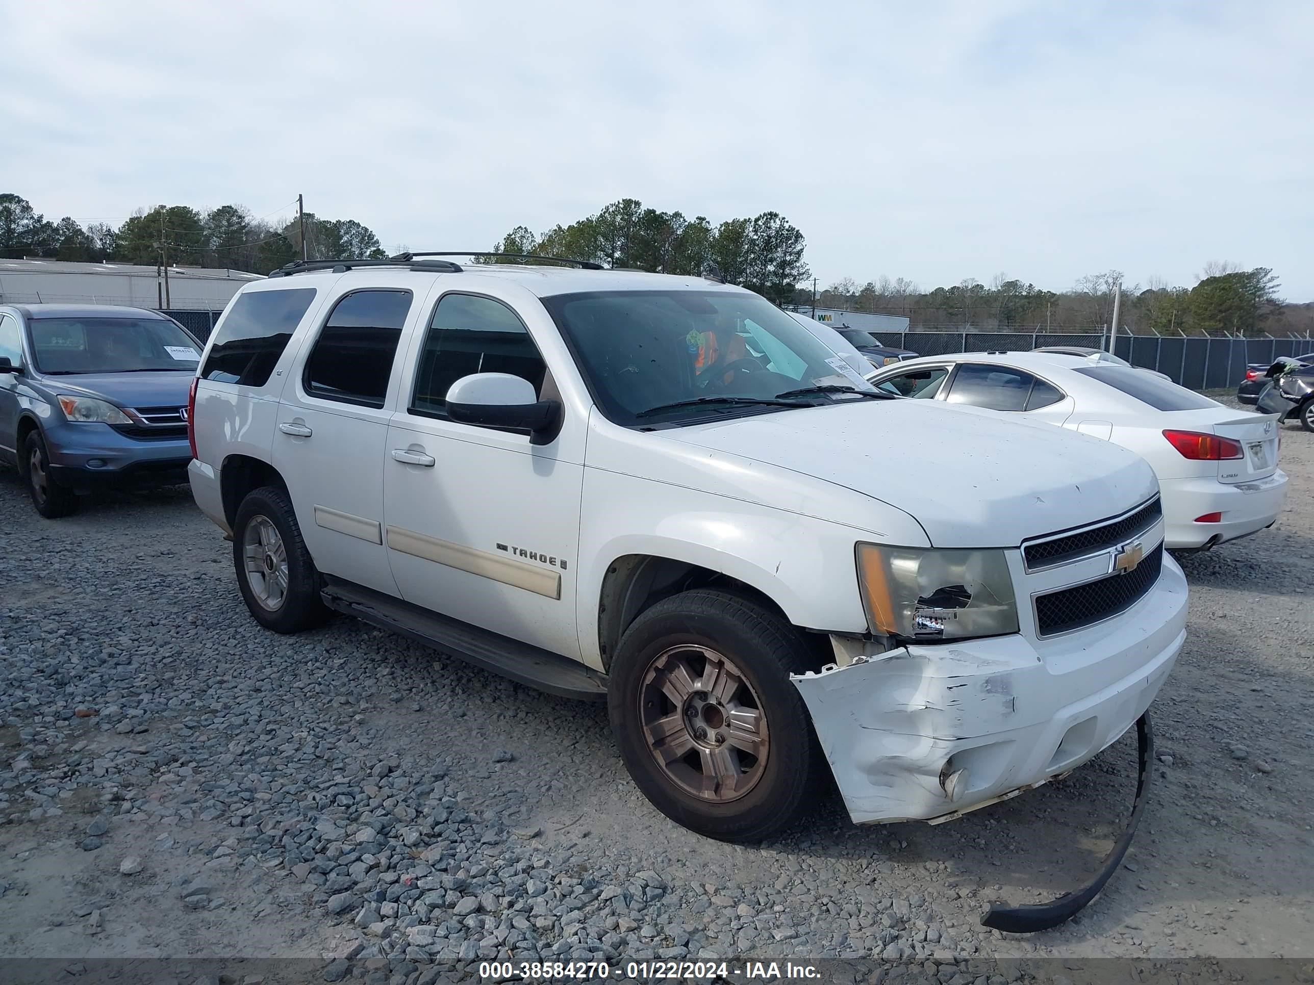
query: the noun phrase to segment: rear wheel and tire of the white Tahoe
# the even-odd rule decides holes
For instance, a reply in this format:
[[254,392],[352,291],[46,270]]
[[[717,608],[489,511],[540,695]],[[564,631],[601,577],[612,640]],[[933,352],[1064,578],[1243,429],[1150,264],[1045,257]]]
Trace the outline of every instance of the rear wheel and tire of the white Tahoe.
[[319,571],[284,490],[263,486],[242,500],[233,524],[233,566],[242,600],[265,629],[300,633],[328,617]]

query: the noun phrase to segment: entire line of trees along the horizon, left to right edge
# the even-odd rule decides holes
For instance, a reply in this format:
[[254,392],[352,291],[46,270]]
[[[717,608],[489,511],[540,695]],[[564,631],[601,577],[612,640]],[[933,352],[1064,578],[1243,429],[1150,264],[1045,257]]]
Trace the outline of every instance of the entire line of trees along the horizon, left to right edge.
[[[381,259],[378,236],[355,219],[305,215],[306,256],[313,260]],[[1242,269],[1210,263],[1192,288],[1158,278],[1129,284],[1121,271],[1080,277],[1064,292],[997,274],[989,285],[966,278],[922,290],[903,277],[859,284],[845,277],[813,296],[803,232],[775,211],[716,223],[704,215],[660,211],[622,198],[543,234],[516,226],[491,252],[537,253],[686,276],[711,274],[763,294],[777,303],[903,315],[911,328],[946,331],[1104,331],[1113,320],[1121,288],[1118,330],[1138,334],[1240,332],[1288,335],[1314,331],[1314,303],[1284,303],[1265,267]],[[85,227],[64,217],[47,221],[17,194],[0,194],[0,257],[113,260],[226,267],[268,273],[301,256],[296,218],[252,217],[242,205],[201,210],[156,205],[120,226]],[[489,256],[476,259],[490,260]],[[532,263],[532,261],[530,261]]]

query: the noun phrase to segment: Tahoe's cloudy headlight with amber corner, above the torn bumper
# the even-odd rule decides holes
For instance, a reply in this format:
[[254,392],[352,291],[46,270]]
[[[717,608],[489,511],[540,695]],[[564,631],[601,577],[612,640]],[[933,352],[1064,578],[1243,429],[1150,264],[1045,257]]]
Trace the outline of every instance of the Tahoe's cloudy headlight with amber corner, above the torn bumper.
[[934,641],[1017,632],[1003,550],[859,544],[858,580],[872,633]]

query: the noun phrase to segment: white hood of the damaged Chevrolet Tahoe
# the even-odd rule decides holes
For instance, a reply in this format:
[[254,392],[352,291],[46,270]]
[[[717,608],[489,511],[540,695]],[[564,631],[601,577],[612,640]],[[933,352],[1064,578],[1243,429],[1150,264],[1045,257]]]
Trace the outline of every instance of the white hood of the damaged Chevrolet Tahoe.
[[1017,546],[1121,514],[1159,489],[1150,466],[1120,445],[937,401],[854,401],[662,437],[879,499],[913,516],[937,548]]

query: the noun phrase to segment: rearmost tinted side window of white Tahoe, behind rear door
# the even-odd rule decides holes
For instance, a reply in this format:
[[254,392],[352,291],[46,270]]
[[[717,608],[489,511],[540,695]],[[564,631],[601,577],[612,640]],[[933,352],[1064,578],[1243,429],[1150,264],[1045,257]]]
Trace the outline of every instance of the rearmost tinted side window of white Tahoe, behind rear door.
[[254,290],[240,296],[219,326],[201,378],[264,386],[314,299],[314,288]]

